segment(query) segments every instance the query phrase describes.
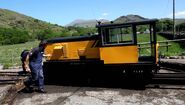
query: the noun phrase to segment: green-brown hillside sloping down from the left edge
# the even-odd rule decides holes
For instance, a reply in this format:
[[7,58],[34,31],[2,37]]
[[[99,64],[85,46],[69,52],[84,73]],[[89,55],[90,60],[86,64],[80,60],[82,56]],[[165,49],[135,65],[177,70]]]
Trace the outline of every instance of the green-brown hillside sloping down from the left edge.
[[23,29],[28,31],[30,35],[45,29],[63,30],[63,27],[56,24],[50,24],[7,9],[0,9],[0,28]]

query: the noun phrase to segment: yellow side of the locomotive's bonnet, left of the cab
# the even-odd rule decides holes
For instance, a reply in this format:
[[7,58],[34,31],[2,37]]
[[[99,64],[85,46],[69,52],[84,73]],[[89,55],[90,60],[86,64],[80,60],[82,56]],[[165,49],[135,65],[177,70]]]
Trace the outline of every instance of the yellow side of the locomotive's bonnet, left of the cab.
[[79,59],[80,56],[100,58],[99,48],[93,47],[95,40],[48,44],[45,49],[47,60]]

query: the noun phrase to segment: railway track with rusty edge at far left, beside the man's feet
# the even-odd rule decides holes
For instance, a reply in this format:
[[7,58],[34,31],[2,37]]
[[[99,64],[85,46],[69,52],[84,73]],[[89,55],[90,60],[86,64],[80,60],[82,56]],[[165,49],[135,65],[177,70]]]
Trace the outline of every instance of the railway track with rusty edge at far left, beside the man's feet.
[[11,104],[18,92],[25,88],[24,81],[29,78],[28,74],[20,74],[20,72],[0,71],[0,85],[10,85],[6,95],[0,101],[0,104]]

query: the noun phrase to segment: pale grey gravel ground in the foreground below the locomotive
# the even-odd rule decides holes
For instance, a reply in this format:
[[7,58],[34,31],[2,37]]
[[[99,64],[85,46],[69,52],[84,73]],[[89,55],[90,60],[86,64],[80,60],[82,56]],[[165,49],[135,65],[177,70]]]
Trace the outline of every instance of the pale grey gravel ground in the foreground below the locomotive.
[[185,105],[185,87],[130,90],[46,86],[48,93],[19,93],[13,105]]

